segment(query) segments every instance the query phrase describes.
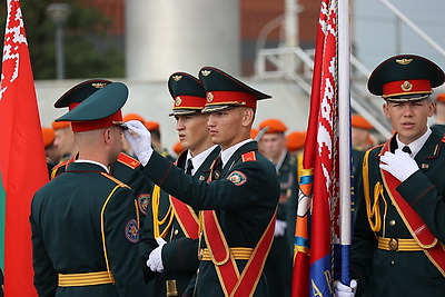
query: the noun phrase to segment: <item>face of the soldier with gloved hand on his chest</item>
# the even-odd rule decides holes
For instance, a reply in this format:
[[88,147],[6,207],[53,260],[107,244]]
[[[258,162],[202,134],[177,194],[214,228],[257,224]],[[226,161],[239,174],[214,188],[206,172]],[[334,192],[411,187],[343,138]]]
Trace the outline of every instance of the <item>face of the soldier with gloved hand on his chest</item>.
[[397,131],[400,141],[408,145],[426,132],[427,120],[434,113],[434,102],[429,99],[407,102],[387,101],[383,110]]

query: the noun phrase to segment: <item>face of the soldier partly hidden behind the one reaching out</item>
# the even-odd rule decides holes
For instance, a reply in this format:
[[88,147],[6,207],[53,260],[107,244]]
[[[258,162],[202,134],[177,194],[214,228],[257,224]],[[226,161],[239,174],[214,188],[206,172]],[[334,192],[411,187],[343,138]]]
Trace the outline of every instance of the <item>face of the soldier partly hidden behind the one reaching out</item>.
[[176,131],[182,148],[192,154],[208,149],[210,135],[207,129],[208,115],[176,116]]

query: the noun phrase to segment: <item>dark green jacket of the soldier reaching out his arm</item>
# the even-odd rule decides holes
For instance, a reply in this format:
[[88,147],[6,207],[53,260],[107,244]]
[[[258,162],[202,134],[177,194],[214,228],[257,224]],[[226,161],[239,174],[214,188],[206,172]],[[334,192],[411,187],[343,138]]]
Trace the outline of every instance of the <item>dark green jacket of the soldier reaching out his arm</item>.
[[[256,155],[256,160],[243,161],[241,155],[249,151]],[[257,151],[256,141],[238,148],[222,168],[219,179],[209,184],[187,176],[157,154],[151,156],[144,174],[194,209],[216,210],[230,248],[255,248],[279,199],[274,165]],[[201,245],[205,247],[204,239]],[[237,260],[240,274],[246,263]],[[195,296],[224,296],[212,261],[200,261]],[[268,296],[264,277],[259,279],[255,296]]]

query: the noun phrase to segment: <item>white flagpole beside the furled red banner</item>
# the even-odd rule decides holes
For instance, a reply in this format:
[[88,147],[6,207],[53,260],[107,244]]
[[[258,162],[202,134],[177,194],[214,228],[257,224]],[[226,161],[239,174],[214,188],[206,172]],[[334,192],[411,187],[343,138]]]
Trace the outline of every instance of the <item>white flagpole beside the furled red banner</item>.
[[338,0],[338,139],[339,139],[339,198],[342,276],[350,283],[349,254],[352,235],[350,214],[350,87],[349,87],[349,0]]

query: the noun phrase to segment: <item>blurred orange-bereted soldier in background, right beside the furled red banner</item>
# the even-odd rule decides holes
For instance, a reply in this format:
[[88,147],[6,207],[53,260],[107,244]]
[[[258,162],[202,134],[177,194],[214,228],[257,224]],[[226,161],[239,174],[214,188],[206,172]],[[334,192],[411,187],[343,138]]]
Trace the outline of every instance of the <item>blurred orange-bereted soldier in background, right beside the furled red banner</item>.
[[[278,202],[277,220],[275,224],[274,244],[265,266],[265,274],[270,294],[290,296],[295,217],[287,220],[289,199],[296,201],[298,197],[297,159],[286,149],[286,125],[278,119],[266,119],[259,123],[259,129],[268,127],[260,141],[260,152],[274,165],[278,176],[280,197]],[[290,202],[291,204],[291,202]],[[294,225],[294,226],[291,226]]]

